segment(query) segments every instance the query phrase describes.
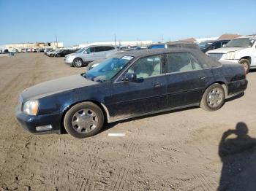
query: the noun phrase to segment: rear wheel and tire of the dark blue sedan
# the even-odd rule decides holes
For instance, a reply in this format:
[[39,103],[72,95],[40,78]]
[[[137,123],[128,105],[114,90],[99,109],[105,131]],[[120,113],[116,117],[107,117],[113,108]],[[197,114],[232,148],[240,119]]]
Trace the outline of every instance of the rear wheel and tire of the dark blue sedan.
[[[216,102],[216,103],[215,103]],[[225,90],[220,84],[209,86],[203,93],[200,107],[208,112],[214,112],[225,104]]]

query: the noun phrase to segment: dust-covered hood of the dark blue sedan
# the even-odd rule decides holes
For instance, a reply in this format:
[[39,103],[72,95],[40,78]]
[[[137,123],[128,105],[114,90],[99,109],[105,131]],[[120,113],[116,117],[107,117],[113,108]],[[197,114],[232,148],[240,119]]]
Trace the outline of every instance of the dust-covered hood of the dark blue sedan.
[[31,86],[26,90],[23,90],[21,97],[23,98],[23,101],[39,99],[54,93],[63,92],[65,90],[72,90],[78,87],[95,85],[97,83],[98,82],[94,82],[82,77],[80,74],[76,74],[73,76],[53,79],[47,82],[42,82],[38,85]]

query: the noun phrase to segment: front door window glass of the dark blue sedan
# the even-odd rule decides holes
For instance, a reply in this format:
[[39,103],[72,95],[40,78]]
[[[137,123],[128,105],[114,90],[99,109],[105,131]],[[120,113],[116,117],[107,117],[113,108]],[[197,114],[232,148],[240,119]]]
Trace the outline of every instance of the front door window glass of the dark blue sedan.
[[146,78],[161,74],[162,62],[160,55],[140,58],[129,69],[128,73],[135,73],[138,78]]

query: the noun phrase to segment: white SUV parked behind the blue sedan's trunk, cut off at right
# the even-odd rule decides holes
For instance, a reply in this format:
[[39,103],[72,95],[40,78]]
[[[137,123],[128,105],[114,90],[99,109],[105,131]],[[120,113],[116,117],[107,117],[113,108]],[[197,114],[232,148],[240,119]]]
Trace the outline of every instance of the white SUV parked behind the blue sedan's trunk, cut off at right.
[[206,55],[220,62],[241,63],[248,73],[249,69],[256,68],[256,36],[238,37],[221,48],[206,52]]

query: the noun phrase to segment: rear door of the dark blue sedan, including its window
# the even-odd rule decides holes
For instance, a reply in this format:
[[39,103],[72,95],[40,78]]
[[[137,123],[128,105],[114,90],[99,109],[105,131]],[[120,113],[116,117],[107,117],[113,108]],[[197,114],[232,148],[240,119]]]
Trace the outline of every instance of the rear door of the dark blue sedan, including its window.
[[169,53],[167,56],[167,106],[169,108],[200,103],[210,78],[210,69],[189,52]]

